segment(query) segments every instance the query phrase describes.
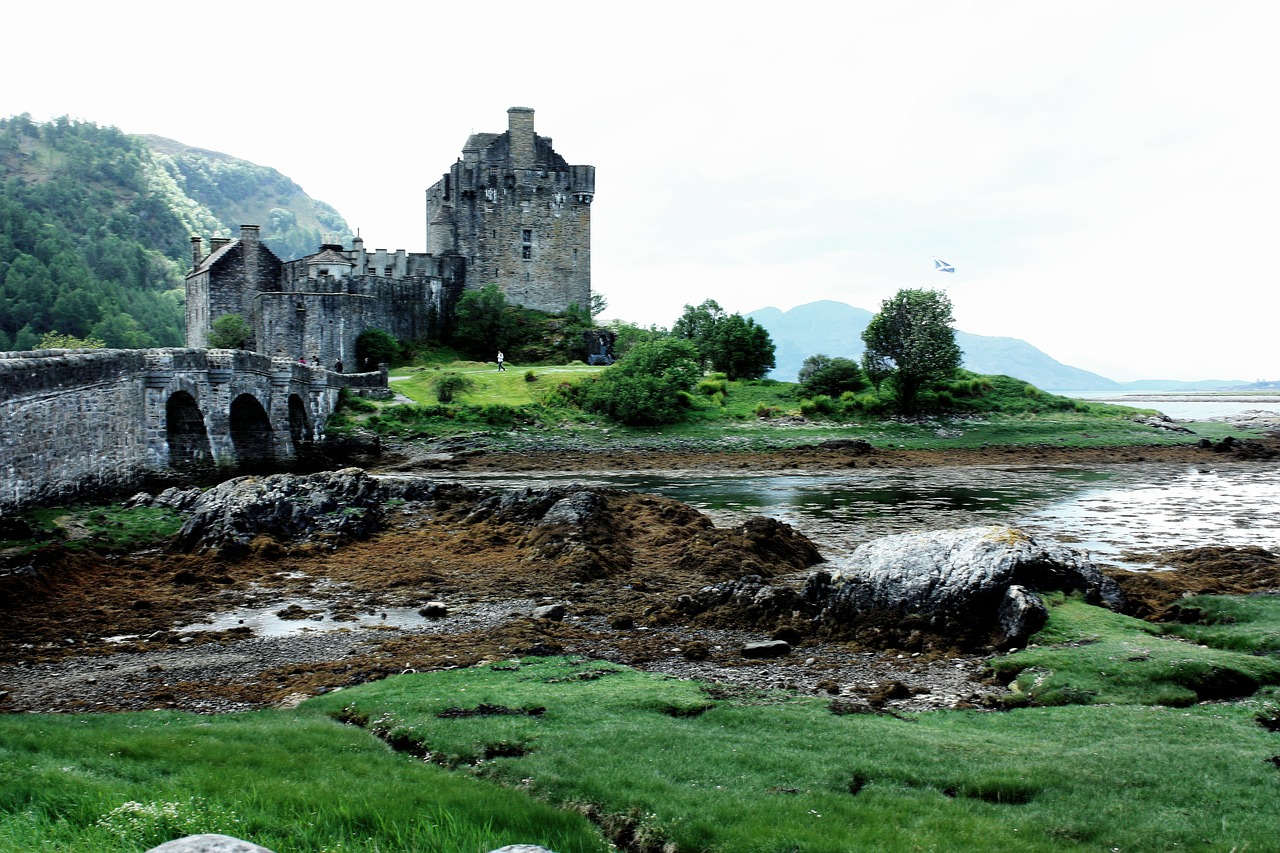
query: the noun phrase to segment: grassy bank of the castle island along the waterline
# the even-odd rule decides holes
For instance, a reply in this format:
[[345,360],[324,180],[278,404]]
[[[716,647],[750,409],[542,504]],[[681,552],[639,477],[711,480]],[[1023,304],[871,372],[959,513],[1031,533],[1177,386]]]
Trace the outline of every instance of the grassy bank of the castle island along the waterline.
[[[945,450],[983,447],[1179,446],[1249,433],[1228,424],[1194,424],[1194,434],[1153,428],[1135,416],[1153,415],[1108,403],[1041,392],[1009,377],[972,377],[952,383],[950,414],[910,420],[890,418],[874,396],[805,398],[795,383],[728,382],[712,377],[684,398],[682,421],[660,428],[625,426],[575,405],[573,386],[603,368],[581,364],[511,368],[481,362],[399,368],[392,388],[411,403],[348,401],[330,429],[355,426],[399,438],[465,435],[494,450],[618,447],[640,450],[769,451],[836,438],[861,438],[877,447]],[[442,402],[435,383],[462,377],[468,387]]]

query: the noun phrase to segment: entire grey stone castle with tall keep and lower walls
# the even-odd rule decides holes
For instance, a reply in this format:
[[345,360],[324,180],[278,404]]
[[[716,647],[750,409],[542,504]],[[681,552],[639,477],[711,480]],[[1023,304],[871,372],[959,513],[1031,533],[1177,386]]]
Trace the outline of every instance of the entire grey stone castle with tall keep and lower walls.
[[468,288],[498,284],[512,305],[590,307],[595,167],[570,165],[534,132],[534,110],[507,110],[504,133],[474,133],[426,191],[426,252],[329,243],[282,261],[257,225],[238,240],[191,238],[187,346],[209,346],[218,318],[238,314],[246,348],[356,365],[356,338],[380,329],[420,339]]

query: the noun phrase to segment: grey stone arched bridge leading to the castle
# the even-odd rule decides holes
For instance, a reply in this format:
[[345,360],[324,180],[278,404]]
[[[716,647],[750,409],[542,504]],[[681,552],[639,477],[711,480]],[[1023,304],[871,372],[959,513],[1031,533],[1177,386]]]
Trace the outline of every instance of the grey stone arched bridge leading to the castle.
[[387,387],[242,350],[0,352],[0,508],[148,474],[262,466],[323,438],[343,387]]

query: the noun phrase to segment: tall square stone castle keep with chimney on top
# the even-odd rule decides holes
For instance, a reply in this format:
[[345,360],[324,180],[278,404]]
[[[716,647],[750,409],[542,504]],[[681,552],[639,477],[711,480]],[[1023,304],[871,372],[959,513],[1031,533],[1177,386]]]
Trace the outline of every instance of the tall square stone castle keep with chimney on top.
[[472,133],[426,191],[426,251],[458,255],[466,286],[498,284],[543,311],[591,301],[595,167],[570,165],[534,133],[534,110],[507,110],[506,133]]

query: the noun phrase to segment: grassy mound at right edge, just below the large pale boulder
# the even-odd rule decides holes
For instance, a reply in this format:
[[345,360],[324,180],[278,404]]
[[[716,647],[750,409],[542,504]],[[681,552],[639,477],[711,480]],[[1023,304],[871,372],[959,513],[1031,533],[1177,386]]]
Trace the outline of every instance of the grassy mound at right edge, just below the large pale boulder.
[[[1275,642],[1277,603],[1267,603],[1265,633]],[[1162,635],[1161,626],[1091,607],[1075,598],[1052,598],[1050,620],[1027,649],[992,661],[992,669],[1015,676],[1012,701],[1032,704],[1166,704],[1185,707],[1202,699],[1249,695],[1262,685],[1280,684],[1280,658],[1261,654],[1233,628],[1215,637],[1198,626],[1167,630],[1192,635],[1188,642]],[[1211,639],[1217,639],[1213,644]],[[1234,651],[1233,651],[1234,647]]]

